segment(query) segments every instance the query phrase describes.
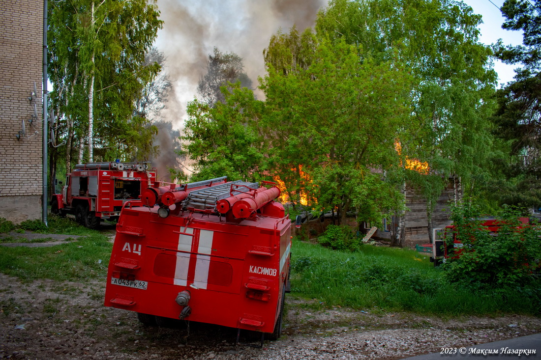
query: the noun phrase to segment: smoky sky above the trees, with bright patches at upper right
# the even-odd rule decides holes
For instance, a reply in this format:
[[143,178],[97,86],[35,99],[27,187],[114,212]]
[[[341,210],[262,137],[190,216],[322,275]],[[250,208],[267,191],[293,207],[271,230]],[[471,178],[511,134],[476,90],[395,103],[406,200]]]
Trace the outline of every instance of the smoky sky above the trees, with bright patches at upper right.
[[[498,7],[504,0],[463,0],[483,16],[480,42],[522,43],[522,33],[502,29],[504,18]],[[299,30],[313,26],[316,14],[326,0],[157,0],[164,21],[156,46],[167,57],[166,72],[174,94],[162,115],[180,129],[186,118],[186,105],[197,95],[197,82],[206,71],[206,59],[214,46],[222,52],[235,52],[243,58],[245,71],[258,84],[265,75],[262,51],[278,29],[287,32],[293,24]],[[494,61],[499,84],[512,81],[513,65]],[[259,90],[258,90],[259,91]],[[262,94],[256,91],[256,96]]]

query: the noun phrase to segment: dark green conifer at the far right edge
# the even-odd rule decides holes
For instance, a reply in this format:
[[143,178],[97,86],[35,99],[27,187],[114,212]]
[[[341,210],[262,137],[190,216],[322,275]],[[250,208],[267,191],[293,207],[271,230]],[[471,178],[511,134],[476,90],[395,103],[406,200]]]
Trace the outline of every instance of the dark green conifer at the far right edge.
[[498,90],[494,133],[502,139],[496,158],[496,181],[489,184],[500,203],[538,208],[541,204],[541,1],[506,0],[502,5],[502,28],[522,30],[523,44],[495,46],[496,55],[515,64],[514,81]]

